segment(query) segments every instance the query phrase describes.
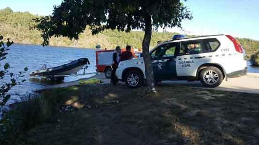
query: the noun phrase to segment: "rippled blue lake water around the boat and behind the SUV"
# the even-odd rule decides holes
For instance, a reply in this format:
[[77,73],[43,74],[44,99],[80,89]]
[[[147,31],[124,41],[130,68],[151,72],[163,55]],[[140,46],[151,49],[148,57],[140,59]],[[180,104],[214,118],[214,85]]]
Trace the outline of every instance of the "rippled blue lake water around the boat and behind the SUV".
[[[29,69],[24,77],[26,81],[21,85],[15,86],[10,91],[12,95],[11,102],[14,100],[19,100],[20,97],[16,93],[19,93],[20,95],[26,95],[27,93],[31,93],[33,90],[43,89],[47,85],[37,81],[31,81],[29,79],[29,73],[31,71],[41,69],[43,64],[47,64],[47,67],[53,67],[69,63],[75,59],[87,57],[90,61],[90,65],[86,73],[93,73],[96,70],[94,49],[41,47],[39,45],[14,44],[10,47],[8,53],[9,54],[7,55],[7,59],[2,61],[1,64],[3,65],[5,62],[8,62],[11,66],[11,72],[18,74],[18,71],[23,70],[24,67],[28,67]],[[250,66],[248,62],[248,71],[259,73],[259,67]],[[75,81],[90,76],[91,75],[66,77],[64,82]]]

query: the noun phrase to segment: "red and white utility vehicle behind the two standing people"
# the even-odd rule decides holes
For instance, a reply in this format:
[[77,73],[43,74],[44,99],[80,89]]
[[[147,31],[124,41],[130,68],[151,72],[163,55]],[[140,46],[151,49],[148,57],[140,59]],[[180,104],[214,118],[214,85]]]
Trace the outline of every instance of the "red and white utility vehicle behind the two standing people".
[[[122,52],[126,49],[122,49]],[[112,75],[112,54],[115,50],[97,50],[96,55],[96,71],[104,72],[106,78],[111,78]],[[132,52],[135,58],[140,57],[141,52]]]

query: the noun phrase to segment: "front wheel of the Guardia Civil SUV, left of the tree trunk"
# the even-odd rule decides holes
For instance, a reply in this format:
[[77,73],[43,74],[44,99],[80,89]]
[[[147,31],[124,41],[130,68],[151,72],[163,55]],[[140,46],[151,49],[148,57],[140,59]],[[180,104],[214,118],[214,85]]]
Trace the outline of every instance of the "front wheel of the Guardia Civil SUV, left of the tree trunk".
[[125,76],[125,82],[130,88],[138,88],[142,86],[143,78],[139,71],[129,71]]

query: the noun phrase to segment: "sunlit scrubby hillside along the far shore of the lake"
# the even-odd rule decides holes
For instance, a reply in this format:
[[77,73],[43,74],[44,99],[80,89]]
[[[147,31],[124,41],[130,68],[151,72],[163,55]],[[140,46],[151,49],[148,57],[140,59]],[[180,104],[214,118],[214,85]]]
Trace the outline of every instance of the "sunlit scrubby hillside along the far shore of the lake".
[[[13,12],[11,8],[0,10],[0,34],[5,38],[11,38],[15,43],[20,44],[41,44],[41,33],[30,28],[35,25],[33,18],[40,17],[29,12]],[[155,47],[158,40],[169,40],[177,33],[170,32],[152,32],[152,39],[150,47]],[[86,28],[83,34],[80,35],[79,40],[70,41],[68,38],[59,37],[51,38],[51,46],[66,46],[66,47],[84,47],[94,48],[96,44],[100,44],[102,48],[115,48],[117,45],[125,47],[131,45],[134,47],[141,47],[144,32],[132,31],[130,33],[106,30],[98,35],[91,35],[90,30]],[[247,38],[237,38],[239,42],[245,47],[247,55],[259,51],[259,41]]]

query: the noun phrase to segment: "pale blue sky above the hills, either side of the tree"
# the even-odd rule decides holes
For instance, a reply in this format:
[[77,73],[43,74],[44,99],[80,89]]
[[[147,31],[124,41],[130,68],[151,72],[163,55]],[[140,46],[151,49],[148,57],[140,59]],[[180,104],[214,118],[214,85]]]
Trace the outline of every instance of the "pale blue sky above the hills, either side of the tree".
[[[62,0],[0,0],[0,9],[29,11],[50,15],[54,5]],[[187,0],[193,19],[182,22],[182,30],[166,28],[169,32],[187,35],[229,34],[234,37],[259,40],[259,0]],[[162,29],[159,29],[162,31]]]

